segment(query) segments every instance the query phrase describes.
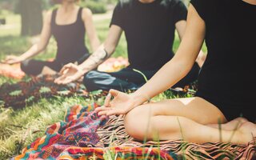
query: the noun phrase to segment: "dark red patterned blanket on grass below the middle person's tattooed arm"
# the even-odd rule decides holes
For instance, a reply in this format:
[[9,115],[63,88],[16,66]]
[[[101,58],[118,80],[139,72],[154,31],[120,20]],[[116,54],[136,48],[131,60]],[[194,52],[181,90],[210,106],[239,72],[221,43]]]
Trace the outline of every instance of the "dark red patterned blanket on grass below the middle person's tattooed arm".
[[82,96],[85,98],[101,98],[106,92],[98,91],[94,94],[85,91],[85,86],[79,82],[72,82],[68,85],[57,85],[54,79],[58,76],[44,75],[30,78],[15,84],[8,82],[0,86],[0,102],[3,106],[11,106],[15,109],[22,108],[41,98],[54,98],[56,96]]

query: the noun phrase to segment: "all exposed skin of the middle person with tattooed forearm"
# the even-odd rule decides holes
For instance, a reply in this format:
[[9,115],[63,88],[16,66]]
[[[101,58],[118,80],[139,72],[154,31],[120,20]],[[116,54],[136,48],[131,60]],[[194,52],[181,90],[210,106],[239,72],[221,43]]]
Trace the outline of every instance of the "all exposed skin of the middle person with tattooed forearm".
[[[140,0],[140,2],[150,3],[154,2],[154,0]],[[177,22],[175,24],[175,27],[176,30],[178,30],[179,38],[182,40],[186,30],[186,21]],[[79,78],[82,78],[82,76],[90,70],[94,70],[95,68],[97,68],[102,62],[106,60],[106,58],[109,58],[112,54],[114,54],[114,50],[116,49],[116,46],[118,46],[122,31],[122,28],[119,26],[110,26],[109,34],[102,46],[98,47],[98,50],[96,50],[90,56],[90,58],[86,59],[86,61],[83,62],[81,65],[78,66],[74,63],[70,63],[66,66],[63,66],[62,70],[60,71],[60,74],[62,74],[62,76],[57,78],[55,82],[58,84],[67,84],[70,82],[74,82]],[[106,52],[104,50],[106,50]],[[198,50],[198,53],[199,52],[200,54],[198,56],[198,64],[199,66],[202,66],[202,61],[205,57],[205,54],[201,50]]]

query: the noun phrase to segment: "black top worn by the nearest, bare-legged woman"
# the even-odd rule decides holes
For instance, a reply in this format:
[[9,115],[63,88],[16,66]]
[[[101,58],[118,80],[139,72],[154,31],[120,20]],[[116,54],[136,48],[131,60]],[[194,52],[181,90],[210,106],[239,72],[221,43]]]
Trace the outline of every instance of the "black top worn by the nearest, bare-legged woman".
[[191,4],[206,23],[208,48],[198,94],[226,106],[252,106],[256,91],[256,6],[242,0],[192,0]]

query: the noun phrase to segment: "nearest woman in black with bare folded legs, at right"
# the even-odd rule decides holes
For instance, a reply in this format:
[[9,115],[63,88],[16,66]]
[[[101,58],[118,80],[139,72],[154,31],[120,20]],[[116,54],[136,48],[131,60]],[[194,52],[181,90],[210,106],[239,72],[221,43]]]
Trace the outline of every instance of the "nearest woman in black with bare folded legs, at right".
[[[98,114],[126,114],[126,131],[137,139],[246,144],[256,137],[256,0],[190,3],[174,58],[134,94],[110,90]],[[145,103],[189,72],[205,39],[208,55],[196,96]]]

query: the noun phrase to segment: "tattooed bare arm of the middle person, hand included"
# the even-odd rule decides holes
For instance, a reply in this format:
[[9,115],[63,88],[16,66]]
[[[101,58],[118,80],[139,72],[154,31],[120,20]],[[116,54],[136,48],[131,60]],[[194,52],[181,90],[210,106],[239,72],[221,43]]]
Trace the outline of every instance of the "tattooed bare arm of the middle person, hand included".
[[76,66],[73,63],[63,66],[62,70],[60,71],[62,76],[57,78],[55,82],[58,84],[74,82],[90,70],[94,70],[96,67],[98,67],[98,65],[104,62],[106,58],[110,57],[110,55],[114,53],[121,35],[122,29],[119,26],[110,26],[109,34],[102,46],[99,46],[98,49],[79,66]]

